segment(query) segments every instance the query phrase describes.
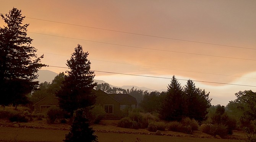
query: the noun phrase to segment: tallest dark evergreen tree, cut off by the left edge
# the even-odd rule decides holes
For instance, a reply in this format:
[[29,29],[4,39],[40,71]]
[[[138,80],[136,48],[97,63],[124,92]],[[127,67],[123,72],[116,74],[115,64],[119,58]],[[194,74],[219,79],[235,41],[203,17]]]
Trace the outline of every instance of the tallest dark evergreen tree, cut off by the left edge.
[[37,71],[46,66],[41,64],[32,39],[27,37],[29,24],[22,24],[25,16],[13,8],[9,14],[1,14],[7,26],[0,27],[0,104],[17,106],[27,101],[26,95],[37,89]]

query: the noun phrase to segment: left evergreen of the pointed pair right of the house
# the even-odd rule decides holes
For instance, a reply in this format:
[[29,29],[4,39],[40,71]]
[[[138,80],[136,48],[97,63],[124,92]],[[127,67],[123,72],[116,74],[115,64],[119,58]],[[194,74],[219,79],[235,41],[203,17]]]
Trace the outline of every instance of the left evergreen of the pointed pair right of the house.
[[186,113],[184,104],[185,95],[175,76],[172,77],[171,84],[168,85],[167,95],[160,105],[160,118],[164,120],[181,120]]

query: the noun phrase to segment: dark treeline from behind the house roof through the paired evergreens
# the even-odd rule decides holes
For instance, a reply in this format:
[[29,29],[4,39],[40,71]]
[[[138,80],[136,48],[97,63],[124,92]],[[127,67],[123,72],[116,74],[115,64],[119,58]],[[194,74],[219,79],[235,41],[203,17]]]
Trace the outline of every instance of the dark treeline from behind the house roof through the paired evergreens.
[[148,92],[141,89],[111,88],[109,84],[99,84],[96,90],[107,93],[128,93],[137,99],[139,107],[144,112],[159,112],[163,120],[181,120],[183,117],[194,118],[198,121],[206,119],[207,108],[211,106],[209,93],[196,88],[192,80],[181,87],[175,76],[168,85],[167,92]]

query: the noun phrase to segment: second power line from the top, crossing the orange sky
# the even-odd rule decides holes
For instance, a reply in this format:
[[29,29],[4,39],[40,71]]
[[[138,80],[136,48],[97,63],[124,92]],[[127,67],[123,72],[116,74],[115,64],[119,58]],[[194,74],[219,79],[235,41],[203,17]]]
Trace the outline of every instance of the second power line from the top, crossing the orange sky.
[[145,48],[145,47],[138,47],[138,46],[128,46],[128,45],[122,45],[122,44],[114,44],[114,43],[105,43],[105,42],[100,42],[100,41],[91,41],[91,40],[86,40],[86,39],[70,38],[70,37],[65,37],[65,36],[49,35],[49,34],[36,33],[36,32],[28,32],[28,33],[35,33],[35,34],[47,35],[47,36],[55,36],[55,37],[60,37],[60,38],[76,39],[76,40],[89,41],[89,42],[94,42],[94,43],[110,44],[110,45],[123,46],[123,47],[133,47],[133,48],[139,48],[139,49],[148,49],[148,50],[157,50],[157,51],[165,51],[165,52],[175,52],[175,53],[181,53],[181,54],[191,54],[191,55],[201,55],[201,56],[209,56],[209,57],[231,58],[231,59],[238,59],[238,60],[256,61],[255,59],[224,57],[224,56],[216,56],[216,55],[196,54],[196,53],[178,52],[178,51],[172,51],[172,50],[162,50],[162,49],[153,49],[153,48]]

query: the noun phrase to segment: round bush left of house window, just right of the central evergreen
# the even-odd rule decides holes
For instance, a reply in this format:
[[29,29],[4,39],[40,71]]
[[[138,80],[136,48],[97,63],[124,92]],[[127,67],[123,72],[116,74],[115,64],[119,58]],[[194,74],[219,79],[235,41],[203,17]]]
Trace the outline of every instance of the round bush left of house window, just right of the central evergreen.
[[98,124],[103,118],[105,118],[106,112],[102,106],[94,106],[94,108],[89,111],[89,115],[91,115],[89,116],[91,121]]

